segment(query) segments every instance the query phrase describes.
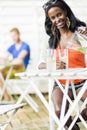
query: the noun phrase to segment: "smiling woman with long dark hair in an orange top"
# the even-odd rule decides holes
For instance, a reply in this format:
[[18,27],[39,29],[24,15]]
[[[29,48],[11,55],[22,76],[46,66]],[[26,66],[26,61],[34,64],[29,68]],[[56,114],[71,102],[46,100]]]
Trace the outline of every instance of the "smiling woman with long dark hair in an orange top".
[[[80,27],[86,27],[86,24],[75,17],[70,7],[63,0],[50,0],[44,6],[46,20],[45,29],[46,33],[50,36],[49,47],[56,49],[66,49],[69,48],[69,68],[84,68],[84,54],[77,51],[78,47],[81,47],[81,42],[79,41],[77,30]],[[44,68],[45,64],[39,66],[39,68]],[[57,58],[57,69],[64,69],[65,63],[58,61]],[[64,86],[64,80],[60,81]],[[75,80],[74,84],[76,87],[76,93],[78,94],[85,80]],[[69,86],[70,87],[70,86]],[[69,89],[68,95],[73,100],[72,89]],[[82,96],[81,100],[85,100],[87,97],[87,91]],[[62,105],[63,93],[57,84],[54,83],[54,90],[52,93],[52,101],[55,108],[55,113],[60,117],[61,105]],[[68,110],[69,103],[67,102],[66,111]],[[84,119],[87,119],[87,108],[82,112]],[[79,119],[78,119],[79,121]],[[72,118],[67,121],[65,128],[68,130],[69,125],[72,122]],[[79,130],[77,124],[75,124],[72,130]]]

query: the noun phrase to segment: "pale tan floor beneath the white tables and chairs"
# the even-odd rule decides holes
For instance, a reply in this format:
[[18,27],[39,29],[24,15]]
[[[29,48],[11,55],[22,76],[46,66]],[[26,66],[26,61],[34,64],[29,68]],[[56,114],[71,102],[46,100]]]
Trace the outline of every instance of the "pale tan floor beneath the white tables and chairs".
[[[45,97],[48,99],[47,94]],[[16,113],[12,123],[6,130],[49,130],[48,112],[36,95],[33,95],[33,98],[40,106],[39,112],[35,113],[30,106],[25,106]],[[17,100],[17,96],[15,99]],[[0,123],[4,122],[9,114],[2,118],[0,117]],[[82,124],[80,124],[80,128],[81,130],[86,130]]]

